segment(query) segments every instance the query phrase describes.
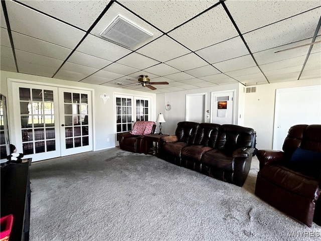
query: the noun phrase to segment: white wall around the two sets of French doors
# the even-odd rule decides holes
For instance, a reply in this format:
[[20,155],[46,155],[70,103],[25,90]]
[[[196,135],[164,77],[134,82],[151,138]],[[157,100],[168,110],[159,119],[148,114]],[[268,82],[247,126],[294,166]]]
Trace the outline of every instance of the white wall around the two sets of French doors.
[[[28,80],[28,81],[35,81],[39,83],[52,83],[55,85],[64,85],[69,88],[89,88],[94,89],[94,96],[93,96],[93,112],[94,112],[94,137],[95,140],[93,140],[95,150],[110,148],[115,146],[115,120],[114,120],[114,93],[119,94],[128,94],[128,95],[135,95],[135,96],[144,96],[144,97],[150,97],[151,98],[151,116],[152,119],[156,119],[155,117],[155,97],[156,95],[153,93],[145,93],[140,91],[133,91],[133,90],[126,90],[122,88],[113,88],[113,87],[107,87],[103,85],[93,85],[93,84],[87,84],[87,83],[81,83],[81,82],[75,82],[75,81],[67,81],[67,80],[61,80],[61,79],[54,79],[54,78],[47,78],[47,77],[41,77],[41,76],[35,76],[30,74],[21,74],[21,73],[14,73],[14,72],[8,72],[8,71],[1,71],[0,72],[0,92],[7,96],[8,98],[8,86],[7,86],[7,78],[13,78],[13,79],[20,79],[20,80]],[[107,103],[104,104],[102,99],[99,97],[101,94],[106,93],[110,96],[110,99],[107,100]],[[11,100],[7,100],[8,103],[8,109],[13,108],[14,106],[11,106]],[[11,116],[8,116],[9,118],[9,131],[12,133],[14,130],[13,122],[11,120]],[[11,136],[13,136],[11,134]],[[109,142],[107,142],[107,138],[109,138]]]

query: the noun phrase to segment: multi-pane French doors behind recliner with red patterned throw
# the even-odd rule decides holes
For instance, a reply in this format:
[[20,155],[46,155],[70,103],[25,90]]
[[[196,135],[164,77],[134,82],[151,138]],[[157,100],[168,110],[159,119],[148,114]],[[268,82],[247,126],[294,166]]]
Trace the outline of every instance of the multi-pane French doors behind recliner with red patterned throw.
[[116,146],[118,133],[130,132],[136,121],[149,121],[150,98],[115,95],[116,107]]

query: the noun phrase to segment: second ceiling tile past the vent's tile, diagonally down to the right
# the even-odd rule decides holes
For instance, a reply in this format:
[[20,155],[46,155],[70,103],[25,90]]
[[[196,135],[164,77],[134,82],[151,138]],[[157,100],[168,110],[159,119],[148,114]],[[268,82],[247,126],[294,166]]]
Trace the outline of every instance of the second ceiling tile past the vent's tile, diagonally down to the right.
[[203,59],[201,59],[194,53],[190,53],[179,58],[172,59],[170,61],[167,61],[166,64],[181,71],[195,69],[201,66],[208,65],[207,62],[205,62]]

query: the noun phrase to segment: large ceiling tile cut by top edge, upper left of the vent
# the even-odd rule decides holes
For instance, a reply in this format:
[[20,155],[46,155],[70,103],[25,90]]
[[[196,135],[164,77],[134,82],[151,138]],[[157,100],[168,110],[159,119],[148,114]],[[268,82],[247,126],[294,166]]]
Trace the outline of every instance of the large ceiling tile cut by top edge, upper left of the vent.
[[[88,30],[104,10],[105,1],[20,1],[36,10],[60,19],[83,30]],[[62,9],[64,11],[62,11]]]

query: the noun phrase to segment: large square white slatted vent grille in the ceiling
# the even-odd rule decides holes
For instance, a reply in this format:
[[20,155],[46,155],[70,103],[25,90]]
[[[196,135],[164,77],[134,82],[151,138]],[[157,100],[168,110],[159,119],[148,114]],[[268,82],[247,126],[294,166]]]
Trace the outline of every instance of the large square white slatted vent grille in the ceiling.
[[120,44],[127,48],[133,48],[142,41],[150,38],[152,34],[130,23],[121,16],[117,16],[100,36],[108,41]]

